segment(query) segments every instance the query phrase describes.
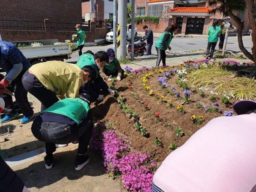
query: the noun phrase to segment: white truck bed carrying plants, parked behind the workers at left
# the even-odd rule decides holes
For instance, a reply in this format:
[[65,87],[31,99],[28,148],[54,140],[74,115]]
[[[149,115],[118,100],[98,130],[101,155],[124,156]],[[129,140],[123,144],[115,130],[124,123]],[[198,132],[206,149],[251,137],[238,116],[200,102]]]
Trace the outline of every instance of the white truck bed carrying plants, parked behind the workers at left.
[[[0,35],[1,40],[1,35]],[[58,60],[64,61],[64,59],[70,58],[72,53],[71,47],[69,44],[59,44],[54,45],[58,42],[58,39],[50,40],[36,40],[36,41],[16,41],[12,42],[16,45],[30,45],[31,43],[40,42],[43,46],[39,47],[18,47],[23,55],[33,64]]]

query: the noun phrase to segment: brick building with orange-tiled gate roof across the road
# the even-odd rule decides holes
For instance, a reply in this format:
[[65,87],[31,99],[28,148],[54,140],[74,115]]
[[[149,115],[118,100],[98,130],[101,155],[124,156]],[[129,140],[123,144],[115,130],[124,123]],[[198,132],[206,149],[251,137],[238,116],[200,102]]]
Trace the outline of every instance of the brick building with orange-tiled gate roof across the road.
[[[137,17],[160,17],[158,24],[143,22],[136,24],[139,31],[143,25],[148,25],[154,32],[163,32],[172,23],[179,25],[179,32],[185,34],[206,34],[214,19],[221,20],[221,13],[210,14],[211,9],[205,0],[136,0],[135,13]],[[244,20],[244,31],[250,29],[248,12],[236,13]],[[233,21],[236,26],[236,23]]]

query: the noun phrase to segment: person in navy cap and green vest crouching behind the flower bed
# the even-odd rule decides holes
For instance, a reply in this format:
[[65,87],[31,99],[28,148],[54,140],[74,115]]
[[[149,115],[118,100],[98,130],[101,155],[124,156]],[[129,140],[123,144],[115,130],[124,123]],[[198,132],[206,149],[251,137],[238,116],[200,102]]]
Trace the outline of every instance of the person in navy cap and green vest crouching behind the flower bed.
[[115,57],[115,51],[113,49],[108,49],[107,54],[109,57],[109,62],[106,63],[103,68],[103,72],[106,76],[108,76],[106,79],[111,81],[112,77],[117,76],[116,80],[121,81],[121,76],[124,73],[124,70],[122,70],[118,59]]

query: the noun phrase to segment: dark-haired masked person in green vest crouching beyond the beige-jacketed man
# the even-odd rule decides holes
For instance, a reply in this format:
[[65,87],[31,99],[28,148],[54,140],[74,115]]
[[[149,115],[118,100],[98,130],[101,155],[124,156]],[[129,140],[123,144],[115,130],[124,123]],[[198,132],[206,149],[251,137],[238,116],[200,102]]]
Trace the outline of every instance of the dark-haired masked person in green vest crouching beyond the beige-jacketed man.
[[108,87],[108,84],[99,74],[99,70],[103,69],[105,64],[108,62],[108,54],[105,51],[99,51],[94,55],[92,55],[92,53],[85,53],[81,55],[76,63],[76,65],[80,68],[91,66],[96,70],[96,79],[91,83],[84,84],[79,90],[79,93],[89,94],[91,96],[91,102],[95,100],[102,101],[104,99],[104,95],[100,94],[100,90],[109,92],[112,95],[115,93],[114,90]]

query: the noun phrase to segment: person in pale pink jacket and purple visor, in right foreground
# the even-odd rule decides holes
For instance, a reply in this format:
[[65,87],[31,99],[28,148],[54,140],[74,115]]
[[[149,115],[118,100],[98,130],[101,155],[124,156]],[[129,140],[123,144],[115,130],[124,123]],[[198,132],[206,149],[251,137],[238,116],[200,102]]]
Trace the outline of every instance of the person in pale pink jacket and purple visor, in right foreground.
[[166,157],[152,192],[256,192],[256,102],[233,109],[238,116],[212,119]]

